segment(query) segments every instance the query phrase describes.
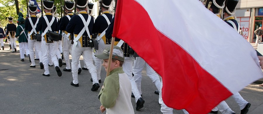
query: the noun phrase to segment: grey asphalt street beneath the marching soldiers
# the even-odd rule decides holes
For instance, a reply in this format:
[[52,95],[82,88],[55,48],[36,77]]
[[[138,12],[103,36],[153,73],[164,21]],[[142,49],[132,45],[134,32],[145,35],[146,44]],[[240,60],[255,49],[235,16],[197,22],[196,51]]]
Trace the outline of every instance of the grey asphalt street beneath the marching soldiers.
[[[50,77],[42,76],[44,69],[40,69],[39,61],[36,61],[36,68],[30,68],[29,57],[26,56],[24,62],[20,61],[18,44],[17,49],[17,52],[12,53],[8,43],[5,43],[5,50],[0,50],[0,114],[101,113],[99,110],[101,103],[98,100],[100,89],[91,91],[89,71],[82,70],[79,74],[79,87],[73,87],[70,85],[73,80],[72,73],[63,71],[65,65],[60,68],[61,77],[58,77],[54,66],[49,67]],[[82,60],[83,58],[81,58],[83,67]],[[100,86],[103,85],[105,75],[106,71],[102,68]],[[142,109],[136,111],[135,99],[131,98],[134,112],[161,114],[158,95],[154,94],[157,88],[146,75],[146,69],[143,70],[142,75],[142,95],[145,104]],[[248,114],[263,113],[263,87],[252,83],[240,91],[240,94],[251,103]],[[239,106],[233,98],[230,97],[226,102],[233,111],[240,113]],[[183,111],[174,110],[173,113],[183,114]]]

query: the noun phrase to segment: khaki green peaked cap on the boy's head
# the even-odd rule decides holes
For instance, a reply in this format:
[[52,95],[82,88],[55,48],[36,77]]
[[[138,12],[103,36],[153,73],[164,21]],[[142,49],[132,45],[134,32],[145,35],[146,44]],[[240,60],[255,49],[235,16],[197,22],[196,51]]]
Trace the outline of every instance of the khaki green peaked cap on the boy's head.
[[[102,54],[95,54],[95,56],[99,59],[109,59],[110,46],[108,46],[106,49],[104,49]],[[124,54],[123,54],[123,51],[120,47],[113,46],[112,58],[124,62]]]

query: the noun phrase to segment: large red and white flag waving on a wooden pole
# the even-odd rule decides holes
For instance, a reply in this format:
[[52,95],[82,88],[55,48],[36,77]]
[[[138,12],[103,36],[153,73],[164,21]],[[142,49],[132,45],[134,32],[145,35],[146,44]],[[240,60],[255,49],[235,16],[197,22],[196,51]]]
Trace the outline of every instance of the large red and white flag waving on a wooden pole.
[[191,114],[263,77],[250,43],[198,0],[118,0],[112,36],[161,75],[167,106]]

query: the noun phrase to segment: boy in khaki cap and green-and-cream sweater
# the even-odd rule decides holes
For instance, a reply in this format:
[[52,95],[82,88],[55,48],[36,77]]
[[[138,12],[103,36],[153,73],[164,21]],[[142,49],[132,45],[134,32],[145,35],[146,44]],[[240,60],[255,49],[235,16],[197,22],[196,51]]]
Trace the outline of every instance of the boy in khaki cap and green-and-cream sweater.
[[[110,47],[107,47],[102,54],[95,54],[99,59],[103,59],[103,66],[107,71],[110,55]],[[131,105],[131,82],[126,73],[122,70],[124,54],[120,47],[113,47],[112,62],[110,65],[110,75],[104,80],[98,98],[101,101],[100,110],[103,113],[134,114]]]

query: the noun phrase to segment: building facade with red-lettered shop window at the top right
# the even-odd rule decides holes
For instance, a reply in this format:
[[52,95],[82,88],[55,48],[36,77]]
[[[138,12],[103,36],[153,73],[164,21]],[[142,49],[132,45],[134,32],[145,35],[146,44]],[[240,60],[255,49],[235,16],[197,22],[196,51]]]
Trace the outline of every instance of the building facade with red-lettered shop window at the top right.
[[235,16],[243,31],[243,38],[250,43],[255,42],[254,31],[263,23],[263,0],[239,0]]

